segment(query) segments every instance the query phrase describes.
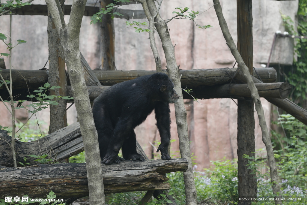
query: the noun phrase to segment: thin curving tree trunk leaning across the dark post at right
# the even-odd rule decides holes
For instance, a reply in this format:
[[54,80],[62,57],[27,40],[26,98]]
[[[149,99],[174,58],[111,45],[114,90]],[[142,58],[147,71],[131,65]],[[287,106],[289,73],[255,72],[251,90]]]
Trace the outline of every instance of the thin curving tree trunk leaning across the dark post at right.
[[[222,7],[220,5],[220,1],[213,0],[213,3],[214,3],[214,9],[216,11],[217,18],[219,19],[221,30],[223,32],[223,36],[226,40],[226,44],[230,48],[232,55],[235,57],[235,60],[238,62],[238,67],[242,71],[243,75],[245,76],[247,80],[248,88],[251,90],[251,97],[255,103],[255,108],[258,114],[258,118],[259,118],[259,125],[262,131],[262,141],[266,145],[266,152],[267,152],[268,160],[269,160],[273,194],[277,196],[278,193],[280,193],[280,187],[279,187],[278,175],[277,175],[277,166],[276,166],[276,162],[274,159],[272,143],[271,143],[268,128],[266,126],[266,121],[265,121],[260,97],[259,97],[257,88],[254,84],[254,81],[251,77],[251,74],[249,73],[247,66],[245,65],[240,53],[238,52],[238,49],[235,46],[235,42],[233,41],[231,34],[228,30],[227,23],[222,13]],[[281,201],[277,199],[275,200],[275,204],[281,204]]]

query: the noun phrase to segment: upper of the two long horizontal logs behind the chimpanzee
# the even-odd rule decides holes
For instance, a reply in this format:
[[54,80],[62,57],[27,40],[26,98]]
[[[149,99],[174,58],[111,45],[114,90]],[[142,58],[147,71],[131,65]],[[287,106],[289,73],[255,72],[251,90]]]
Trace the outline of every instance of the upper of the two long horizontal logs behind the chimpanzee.
[[[0,69],[4,80],[10,80],[10,71]],[[231,76],[235,73],[235,68],[217,68],[217,69],[197,69],[180,70],[182,87],[197,87],[200,85],[222,85],[231,81]],[[166,70],[162,70],[166,73]],[[265,83],[274,82],[277,73],[274,68],[256,68],[255,71]],[[101,85],[114,85],[119,82],[132,80],[143,75],[153,74],[154,70],[129,70],[129,71],[93,71],[100,81]],[[256,73],[256,72],[255,72]],[[67,73],[68,76],[68,73]],[[258,78],[258,75],[255,74]],[[37,89],[48,81],[48,71],[46,70],[12,70],[12,88],[13,89]],[[68,78],[68,85],[70,81]],[[5,89],[4,86],[0,87]]]

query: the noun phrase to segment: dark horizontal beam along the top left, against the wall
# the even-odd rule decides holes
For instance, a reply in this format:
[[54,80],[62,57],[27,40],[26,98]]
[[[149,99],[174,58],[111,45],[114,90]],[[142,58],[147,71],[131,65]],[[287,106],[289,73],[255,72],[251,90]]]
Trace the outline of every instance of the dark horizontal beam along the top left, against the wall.
[[[72,5],[65,5],[64,9],[64,15],[70,15],[70,10],[72,8]],[[84,10],[84,16],[93,16],[99,11],[98,6],[85,6]],[[132,16],[134,19],[139,18],[146,18],[145,13],[143,10],[128,10],[128,9],[116,9],[115,12],[118,12],[122,14],[123,16],[114,15],[115,18],[125,18],[125,19],[131,19]],[[21,8],[18,8],[14,11],[12,11],[14,14],[18,15],[48,15],[48,8],[47,5],[44,4],[31,4],[22,6]]]

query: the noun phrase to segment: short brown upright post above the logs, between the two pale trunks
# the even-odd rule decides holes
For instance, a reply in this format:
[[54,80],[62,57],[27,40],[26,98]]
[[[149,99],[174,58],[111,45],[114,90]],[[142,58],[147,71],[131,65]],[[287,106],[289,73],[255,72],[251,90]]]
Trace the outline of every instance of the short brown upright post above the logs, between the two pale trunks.
[[[101,0],[101,8],[106,8],[112,0]],[[102,70],[116,70],[114,21],[110,14],[102,16],[100,22],[100,49]]]

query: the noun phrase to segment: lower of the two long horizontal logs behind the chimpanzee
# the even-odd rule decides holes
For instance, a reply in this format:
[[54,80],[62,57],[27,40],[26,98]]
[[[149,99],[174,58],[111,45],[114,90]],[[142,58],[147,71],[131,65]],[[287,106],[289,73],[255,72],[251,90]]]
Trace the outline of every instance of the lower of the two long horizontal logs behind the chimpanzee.
[[[95,100],[96,97],[109,87],[110,86],[87,86],[90,100]],[[291,85],[289,83],[257,83],[256,87],[260,97],[284,99],[291,92]],[[188,89],[192,89],[192,93],[190,94],[198,99],[251,97],[251,92],[247,88],[247,84],[199,86],[196,88],[188,87]],[[70,86],[67,86],[67,95],[72,96]],[[184,99],[193,99],[192,96],[183,92]]]

